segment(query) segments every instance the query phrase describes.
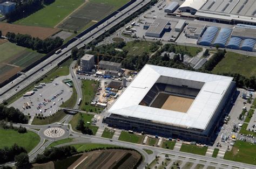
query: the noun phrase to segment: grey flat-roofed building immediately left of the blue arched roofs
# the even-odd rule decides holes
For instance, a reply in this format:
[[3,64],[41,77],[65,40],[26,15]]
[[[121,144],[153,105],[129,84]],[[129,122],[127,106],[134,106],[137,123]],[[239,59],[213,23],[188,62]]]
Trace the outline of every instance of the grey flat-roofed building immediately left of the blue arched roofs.
[[192,39],[199,39],[206,29],[204,24],[189,23],[184,30],[185,36]]

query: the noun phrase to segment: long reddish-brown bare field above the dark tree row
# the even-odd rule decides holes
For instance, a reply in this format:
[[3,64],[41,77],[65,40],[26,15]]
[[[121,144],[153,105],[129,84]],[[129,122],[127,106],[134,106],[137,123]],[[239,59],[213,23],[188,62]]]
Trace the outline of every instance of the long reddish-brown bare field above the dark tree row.
[[16,34],[30,34],[31,37],[38,37],[40,39],[46,39],[60,31],[56,28],[25,26],[8,23],[0,23],[0,30],[2,31],[3,35],[5,35],[7,32],[14,32]]

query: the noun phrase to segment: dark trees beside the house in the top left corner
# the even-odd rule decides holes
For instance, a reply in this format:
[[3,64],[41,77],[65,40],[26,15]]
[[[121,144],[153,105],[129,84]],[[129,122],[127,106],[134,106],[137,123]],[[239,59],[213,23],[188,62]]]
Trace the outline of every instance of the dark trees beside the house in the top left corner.
[[35,13],[36,11],[42,9],[45,5],[48,5],[55,0],[24,0],[19,1],[15,0],[16,2],[16,9],[8,14],[5,15],[7,22],[15,22],[18,19],[22,19]]

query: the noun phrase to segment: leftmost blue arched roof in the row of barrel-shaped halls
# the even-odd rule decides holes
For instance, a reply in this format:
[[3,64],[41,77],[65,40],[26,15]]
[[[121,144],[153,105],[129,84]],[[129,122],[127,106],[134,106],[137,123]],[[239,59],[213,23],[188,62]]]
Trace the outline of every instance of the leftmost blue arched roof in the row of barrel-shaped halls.
[[218,27],[210,26],[204,32],[202,38],[199,40],[199,45],[211,46],[213,39],[218,32]]

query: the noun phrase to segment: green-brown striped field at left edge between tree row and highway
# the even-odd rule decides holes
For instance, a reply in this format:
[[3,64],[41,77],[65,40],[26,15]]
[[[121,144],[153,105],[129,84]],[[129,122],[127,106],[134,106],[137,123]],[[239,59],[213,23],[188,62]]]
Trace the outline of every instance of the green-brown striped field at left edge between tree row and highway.
[[43,57],[43,54],[17,46],[9,41],[0,45],[0,51],[0,83]]

